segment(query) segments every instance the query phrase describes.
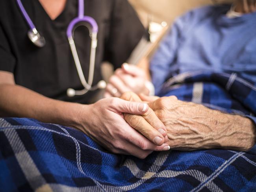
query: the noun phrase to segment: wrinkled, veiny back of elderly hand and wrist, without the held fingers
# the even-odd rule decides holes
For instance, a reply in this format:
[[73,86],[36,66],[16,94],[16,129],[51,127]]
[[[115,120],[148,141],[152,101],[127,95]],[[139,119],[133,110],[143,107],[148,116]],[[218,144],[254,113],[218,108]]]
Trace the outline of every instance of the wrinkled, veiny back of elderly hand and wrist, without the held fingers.
[[141,96],[141,99],[151,101],[149,107],[167,128],[171,149],[223,148],[246,151],[255,144],[255,127],[249,118],[182,102],[175,96]]

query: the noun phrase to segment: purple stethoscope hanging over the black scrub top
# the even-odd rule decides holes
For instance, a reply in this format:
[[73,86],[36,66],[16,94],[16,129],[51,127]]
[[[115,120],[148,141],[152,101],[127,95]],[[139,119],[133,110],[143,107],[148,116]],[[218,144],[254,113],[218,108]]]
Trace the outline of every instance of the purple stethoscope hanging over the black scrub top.
[[[39,34],[36,30],[35,25],[33,24],[32,20],[28,16],[24,6],[22,5],[20,0],[17,0],[17,4],[19,5],[20,11],[22,15],[26,19],[30,30],[28,31],[28,38],[30,41],[35,44],[35,46],[41,48],[45,46],[45,38]],[[78,25],[78,23],[82,22],[82,24]],[[83,75],[81,63],[76,51],[76,46],[74,43],[74,31],[79,26],[85,26],[89,30],[89,36],[91,37],[91,53],[90,53],[90,65],[89,65],[89,77],[88,82],[85,80]],[[93,76],[94,76],[94,69],[95,69],[95,55],[96,55],[96,47],[97,47],[97,33],[98,33],[98,25],[96,21],[89,16],[84,15],[84,0],[78,0],[78,17],[74,18],[68,28],[67,28],[67,38],[69,40],[69,45],[71,48],[71,52],[74,58],[74,62],[76,64],[76,69],[78,72],[78,76],[80,81],[84,87],[82,90],[74,90],[74,89],[67,89],[67,95],[69,97],[73,97],[75,95],[83,95],[87,93],[89,90],[96,90],[96,89],[105,89],[106,82],[101,80],[97,83],[97,85],[92,86],[93,84]]]

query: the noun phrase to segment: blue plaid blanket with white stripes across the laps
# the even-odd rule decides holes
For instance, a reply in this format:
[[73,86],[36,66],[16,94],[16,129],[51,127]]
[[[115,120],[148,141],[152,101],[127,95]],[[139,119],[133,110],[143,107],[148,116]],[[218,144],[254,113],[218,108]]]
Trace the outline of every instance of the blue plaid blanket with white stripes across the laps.
[[[189,93],[190,92],[190,93]],[[162,95],[255,120],[256,87],[236,74],[181,74]],[[0,118],[0,191],[256,191],[256,151],[108,153],[80,131]]]

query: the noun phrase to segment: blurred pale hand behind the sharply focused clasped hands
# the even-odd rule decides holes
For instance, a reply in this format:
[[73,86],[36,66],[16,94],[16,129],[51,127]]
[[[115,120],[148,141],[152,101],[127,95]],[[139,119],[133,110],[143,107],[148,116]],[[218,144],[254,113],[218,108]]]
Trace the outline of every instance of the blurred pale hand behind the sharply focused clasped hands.
[[120,97],[124,92],[148,95],[149,90],[145,86],[146,82],[144,70],[135,65],[124,63],[122,68],[115,70],[115,74],[110,77],[104,97]]

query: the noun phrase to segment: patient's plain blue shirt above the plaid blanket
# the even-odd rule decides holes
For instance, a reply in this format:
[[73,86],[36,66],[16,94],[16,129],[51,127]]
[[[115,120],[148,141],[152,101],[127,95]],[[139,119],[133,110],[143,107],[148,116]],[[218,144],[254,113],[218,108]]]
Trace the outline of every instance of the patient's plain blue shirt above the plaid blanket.
[[236,72],[256,82],[256,12],[228,18],[230,6],[194,9],[178,18],[150,63],[156,94],[184,72]]

